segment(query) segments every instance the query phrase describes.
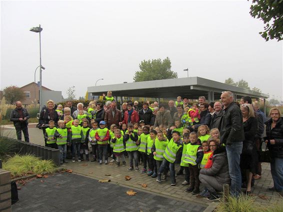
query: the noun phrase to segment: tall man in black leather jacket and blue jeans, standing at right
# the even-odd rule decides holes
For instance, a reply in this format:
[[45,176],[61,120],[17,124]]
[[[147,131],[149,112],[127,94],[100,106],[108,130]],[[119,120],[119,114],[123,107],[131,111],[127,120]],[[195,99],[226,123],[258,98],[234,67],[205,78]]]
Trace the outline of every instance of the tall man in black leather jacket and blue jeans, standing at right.
[[241,192],[240,154],[244,139],[242,114],[239,106],[233,102],[233,93],[223,91],[221,94],[223,116],[220,126],[220,141],[226,145],[231,194],[238,196]]

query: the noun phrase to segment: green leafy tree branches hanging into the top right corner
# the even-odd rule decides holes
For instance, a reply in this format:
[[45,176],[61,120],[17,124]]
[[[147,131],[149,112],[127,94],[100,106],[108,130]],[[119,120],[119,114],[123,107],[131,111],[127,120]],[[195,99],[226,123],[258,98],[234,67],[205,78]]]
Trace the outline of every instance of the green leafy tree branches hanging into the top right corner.
[[269,39],[282,40],[283,32],[283,1],[282,0],[252,0],[250,15],[263,20],[264,31],[259,32],[268,41]]

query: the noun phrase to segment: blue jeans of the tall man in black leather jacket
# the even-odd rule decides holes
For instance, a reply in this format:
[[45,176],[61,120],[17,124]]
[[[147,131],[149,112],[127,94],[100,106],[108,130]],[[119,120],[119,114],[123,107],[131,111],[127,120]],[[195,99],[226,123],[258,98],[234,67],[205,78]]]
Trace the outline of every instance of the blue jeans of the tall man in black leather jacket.
[[240,154],[242,142],[232,142],[226,145],[227,159],[229,165],[229,175],[231,178],[230,192],[233,196],[238,196],[241,192],[241,172],[240,172]]

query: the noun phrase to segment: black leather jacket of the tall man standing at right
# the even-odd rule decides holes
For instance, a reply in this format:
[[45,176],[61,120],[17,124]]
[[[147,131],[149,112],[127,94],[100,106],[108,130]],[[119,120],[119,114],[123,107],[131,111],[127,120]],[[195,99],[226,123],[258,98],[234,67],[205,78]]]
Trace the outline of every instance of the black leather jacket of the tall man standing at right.
[[231,102],[228,107],[223,109],[220,135],[221,143],[226,145],[244,140],[242,114],[235,102]]

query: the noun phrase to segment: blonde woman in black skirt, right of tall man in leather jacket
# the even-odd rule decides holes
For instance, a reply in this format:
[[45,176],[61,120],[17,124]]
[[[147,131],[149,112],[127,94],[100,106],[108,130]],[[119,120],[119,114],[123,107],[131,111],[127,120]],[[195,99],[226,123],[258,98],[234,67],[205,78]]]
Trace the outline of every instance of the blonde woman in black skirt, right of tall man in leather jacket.
[[249,194],[252,174],[255,174],[258,162],[258,154],[254,145],[254,136],[257,132],[257,118],[254,116],[251,104],[242,104],[240,108],[244,131],[243,148],[242,154],[240,155],[240,167],[243,176],[246,177],[246,194]]

